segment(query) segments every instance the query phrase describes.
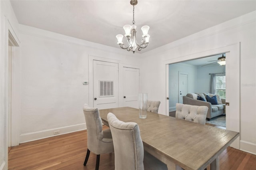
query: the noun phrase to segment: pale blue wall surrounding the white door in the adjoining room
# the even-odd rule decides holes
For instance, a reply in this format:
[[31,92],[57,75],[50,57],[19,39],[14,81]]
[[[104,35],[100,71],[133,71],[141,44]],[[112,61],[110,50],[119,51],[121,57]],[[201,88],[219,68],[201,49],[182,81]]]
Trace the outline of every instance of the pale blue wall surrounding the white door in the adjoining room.
[[[176,110],[179,98],[179,72],[188,73],[188,93],[195,93],[197,84],[197,67],[185,63],[169,65],[169,111]],[[186,94],[184,94],[186,95]]]

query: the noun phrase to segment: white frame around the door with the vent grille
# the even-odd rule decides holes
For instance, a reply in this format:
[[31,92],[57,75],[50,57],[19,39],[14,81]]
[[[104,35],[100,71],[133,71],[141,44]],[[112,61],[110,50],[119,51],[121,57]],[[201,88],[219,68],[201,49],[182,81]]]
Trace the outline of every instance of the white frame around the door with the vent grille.
[[118,89],[119,89],[119,94],[117,95],[118,97],[118,107],[120,105],[120,60],[116,59],[108,59],[104,57],[96,57],[94,55],[88,55],[88,89],[89,89],[89,95],[88,95],[88,105],[90,107],[93,107],[93,100],[94,100],[94,85],[93,85],[93,61],[103,61],[103,62],[109,62],[109,63],[118,63]]

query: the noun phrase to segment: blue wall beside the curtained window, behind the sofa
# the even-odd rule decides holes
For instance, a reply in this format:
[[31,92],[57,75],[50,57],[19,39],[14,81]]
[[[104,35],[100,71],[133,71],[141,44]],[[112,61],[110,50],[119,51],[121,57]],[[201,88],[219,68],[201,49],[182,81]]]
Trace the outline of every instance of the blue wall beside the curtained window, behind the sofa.
[[[224,69],[223,69],[224,67]],[[225,73],[225,66],[209,66],[197,68],[196,93],[210,93],[210,73]]]

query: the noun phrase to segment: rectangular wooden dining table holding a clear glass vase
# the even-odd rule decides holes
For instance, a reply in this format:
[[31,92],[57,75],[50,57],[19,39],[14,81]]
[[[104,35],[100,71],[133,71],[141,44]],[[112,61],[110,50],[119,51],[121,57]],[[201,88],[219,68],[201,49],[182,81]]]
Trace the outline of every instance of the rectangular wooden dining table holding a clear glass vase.
[[218,156],[239,136],[239,132],[151,112],[140,119],[139,110],[132,107],[100,110],[107,126],[110,112],[120,121],[137,123],[144,150],[164,162],[168,170],[204,170],[209,164],[211,170],[218,170]]

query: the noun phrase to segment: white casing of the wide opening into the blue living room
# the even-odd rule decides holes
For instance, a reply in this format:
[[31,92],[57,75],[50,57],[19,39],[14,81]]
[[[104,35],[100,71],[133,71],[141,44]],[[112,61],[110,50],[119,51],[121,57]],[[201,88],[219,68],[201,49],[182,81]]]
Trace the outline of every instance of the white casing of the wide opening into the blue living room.
[[[208,57],[211,55],[217,55],[220,53],[226,53],[226,58],[229,58],[230,62],[232,62],[233,67],[236,67],[236,71],[233,72],[232,74],[236,74],[233,78],[236,80],[236,84],[232,85],[234,88],[236,88],[238,91],[235,93],[235,97],[229,97],[226,96],[226,102],[230,102],[232,100],[232,105],[236,105],[238,108],[236,112],[232,113],[232,118],[231,115],[226,115],[226,129],[227,130],[233,130],[236,132],[240,132],[240,42],[238,43],[233,43],[230,45],[225,45],[222,47],[206,50],[206,51],[199,51],[198,53],[193,53],[190,55],[185,55],[185,56],[174,56],[173,59],[168,59],[163,61],[163,64],[165,65],[166,68],[166,75],[168,75],[168,65],[173,64],[173,63],[179,63],[182,61],[187,61],[191,59],[198,59],[198,58],[203,58],[203,57]],[[226,67],[226,76],[229,74],[227,73],[228,68]],[[166,76],[166,96],[168,96],[168,78]],[[166,104],[166,115],[167,115],[167,108],[169,108],[169,101],[165,99],[165,104]],[[226,110],[229,109],[228,107]],[[228,112],[228,111],[227,111]],[[236,140],[230,145],[234,148],[240,149],[240,136],[236,138]]]

